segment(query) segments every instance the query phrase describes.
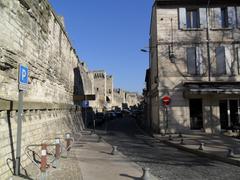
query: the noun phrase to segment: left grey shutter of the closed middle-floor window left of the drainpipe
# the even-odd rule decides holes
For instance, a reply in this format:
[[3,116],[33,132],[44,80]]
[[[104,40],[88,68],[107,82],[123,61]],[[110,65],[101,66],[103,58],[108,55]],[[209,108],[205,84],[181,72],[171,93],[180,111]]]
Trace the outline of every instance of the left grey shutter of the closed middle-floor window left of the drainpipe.
[[187,67],[189,74],[196,74],[196,49],[195,47],[187,48]]

